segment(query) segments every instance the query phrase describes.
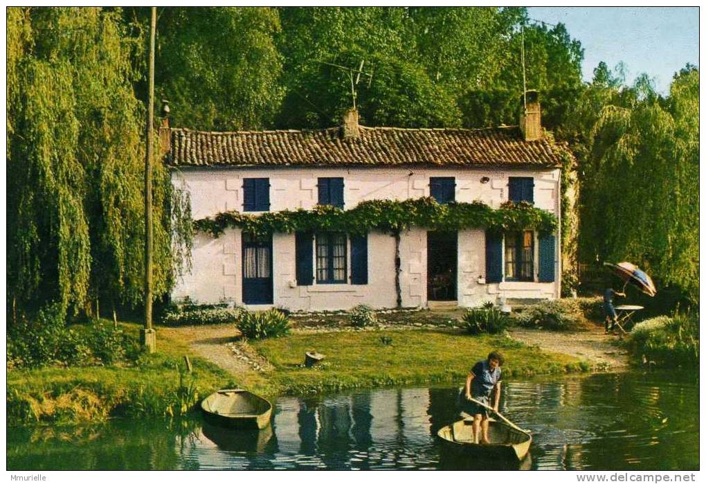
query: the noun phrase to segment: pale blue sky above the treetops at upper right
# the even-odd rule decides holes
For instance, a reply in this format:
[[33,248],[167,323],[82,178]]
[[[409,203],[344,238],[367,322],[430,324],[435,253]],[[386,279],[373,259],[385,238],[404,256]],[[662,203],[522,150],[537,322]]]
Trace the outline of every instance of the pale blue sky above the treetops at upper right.
[[657,91],[668,93],[671,78],[687,62],[699,65],[697,7],[529,7],[530,18],[563,23],[584,49],[583,77],[605,61],[623,61],[626,82],[647,73]]

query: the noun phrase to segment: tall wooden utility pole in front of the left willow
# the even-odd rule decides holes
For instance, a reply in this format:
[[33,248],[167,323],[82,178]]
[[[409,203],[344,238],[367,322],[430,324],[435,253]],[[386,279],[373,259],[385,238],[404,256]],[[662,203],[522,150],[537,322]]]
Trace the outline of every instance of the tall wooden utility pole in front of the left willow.
[[157,7],[152,7],[147,102],[147,150],[145,150],[145,327],[140,331],[140,340],[143,348],[148,353],[154,353],[157,347],[157,335],[152,328],[152,141],[155,131],[155,30],[157,30]]

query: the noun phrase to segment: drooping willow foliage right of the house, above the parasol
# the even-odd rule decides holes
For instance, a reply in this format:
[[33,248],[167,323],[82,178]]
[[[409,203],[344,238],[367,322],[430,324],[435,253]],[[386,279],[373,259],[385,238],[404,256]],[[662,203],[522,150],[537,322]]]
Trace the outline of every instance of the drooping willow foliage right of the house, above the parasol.
[[581,259],[631,261],[698,302],[698,70],[683,69],[661,98],[647,78],[628,88],[599,67],[566,126],[580,165]]

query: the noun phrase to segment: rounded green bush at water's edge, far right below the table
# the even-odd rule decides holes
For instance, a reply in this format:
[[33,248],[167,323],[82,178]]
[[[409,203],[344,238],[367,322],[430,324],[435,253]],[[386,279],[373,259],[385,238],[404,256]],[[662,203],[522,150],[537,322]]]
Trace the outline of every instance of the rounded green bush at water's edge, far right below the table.
[[677,313],[635,325],[628,341],[635,358],[659,366],[699,365],[699,319],[696,314]]

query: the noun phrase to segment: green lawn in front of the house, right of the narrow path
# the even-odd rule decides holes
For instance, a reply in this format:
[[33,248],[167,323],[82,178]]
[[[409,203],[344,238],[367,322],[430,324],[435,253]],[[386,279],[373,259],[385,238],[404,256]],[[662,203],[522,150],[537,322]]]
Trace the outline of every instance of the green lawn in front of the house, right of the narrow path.
[[[391,343],[383,343],[391,338]],[[462,384],[477,361],[497,349],[505,356],[505,377],[557,374],[589,369],[567,355],[547,353],[504,336],[469,336],[445,331],[338,331],[294,334],[251,342],[275,367],[270,384],[282,394],[310,394],[361,386],[428,383]],[[304,353],[326,358],[316,367],[303,365]],[[255,388],[257,391],[258,388]]]

